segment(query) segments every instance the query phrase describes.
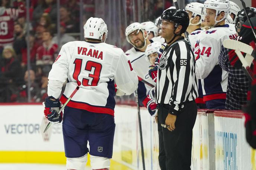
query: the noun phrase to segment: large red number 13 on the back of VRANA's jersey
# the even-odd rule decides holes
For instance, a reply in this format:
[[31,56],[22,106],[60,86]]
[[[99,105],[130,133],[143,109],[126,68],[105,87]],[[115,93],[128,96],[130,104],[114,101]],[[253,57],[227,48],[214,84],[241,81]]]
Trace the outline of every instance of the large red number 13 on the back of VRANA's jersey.
[[[77,81],[77,85],[83,85],[83,86],[97,86],[99,83],[100,79],[100,72],[102,69],[102,65],[100,63],[94,62],[94,61],[87,61],[84,70],[88,72],[92,72],[93,68],[94,71],[93,73],[89,73],[88,77],[92,78],[92,81],[90,82],[90,79],[87,78],[82,78],[82,80],[79,80],[78,77],[83,71],[82,69],[82,62],[83,59],[75,59],[74,64],[74,73],[73,73],[73,78]],[[81,79],[81,78],[80,78]]]

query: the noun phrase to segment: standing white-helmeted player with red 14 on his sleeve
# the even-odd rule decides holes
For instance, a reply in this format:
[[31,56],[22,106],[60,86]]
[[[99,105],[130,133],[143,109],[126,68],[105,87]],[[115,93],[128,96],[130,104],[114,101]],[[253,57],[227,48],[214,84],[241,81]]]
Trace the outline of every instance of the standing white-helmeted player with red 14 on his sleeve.
[[205,21],[211,29],[198,36],[195,45],[196,77],[201,79],[204,101],[208,109],[225,109],[227,72],[218,64],[223,41],[233,38],[236,32],[225,24],[230,11],[228,0],[207,0]]

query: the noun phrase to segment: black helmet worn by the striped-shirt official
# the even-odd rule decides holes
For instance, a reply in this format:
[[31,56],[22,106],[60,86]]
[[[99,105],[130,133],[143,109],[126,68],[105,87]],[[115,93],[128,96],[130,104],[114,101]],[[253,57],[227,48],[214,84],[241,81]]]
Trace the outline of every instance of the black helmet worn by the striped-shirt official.
[[180,34],[184,33],[189,25],[188,13],[179,9],[167,9],[161,15],[161,19],[169,20],[174,23],[175,29],[181,25],[182,29]]

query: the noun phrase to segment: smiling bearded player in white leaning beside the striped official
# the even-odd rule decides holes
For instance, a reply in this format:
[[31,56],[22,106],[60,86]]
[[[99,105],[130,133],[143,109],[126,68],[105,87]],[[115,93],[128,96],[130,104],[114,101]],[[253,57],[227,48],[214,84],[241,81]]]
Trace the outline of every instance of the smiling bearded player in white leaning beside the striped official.
[[[143,25],[138,22],[130,24],[125,29],[125,36],[127,38],[127,41],[131,43],[132,46],[134,46],[133,48],[127,50],[125,54],[127,55],[127,58],[131,61],[132,67],[137,73],[137,76],[143,79],[143,81],[154,85],[155,82],[148,75],[148,67],[151,64],[145,58],[145,50],[150,43],[154,42],[155,37],[149,40],[147,31],[145,30]],[[160,40],[162,40],[161,43],[164,42],[163,38]],[[138,99],[140,103],[148,109],[150,115],[153,116],[156,114],[157,105],[147,95],[150,89],[150,86],[139,81]]]

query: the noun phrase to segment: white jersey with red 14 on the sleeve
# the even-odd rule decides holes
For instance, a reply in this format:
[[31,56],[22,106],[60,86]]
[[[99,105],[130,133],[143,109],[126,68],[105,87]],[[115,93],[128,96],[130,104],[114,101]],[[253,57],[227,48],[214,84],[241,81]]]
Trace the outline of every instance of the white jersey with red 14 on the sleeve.
[[202,32],[196,41],[196,77],[201,79],[204,101],[225,99],[228,74],[219,63],[218,56],[225,39],[236,37],[236,31],[228,24],[217,26]]

